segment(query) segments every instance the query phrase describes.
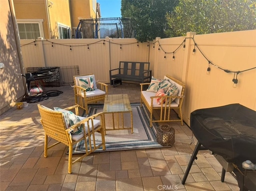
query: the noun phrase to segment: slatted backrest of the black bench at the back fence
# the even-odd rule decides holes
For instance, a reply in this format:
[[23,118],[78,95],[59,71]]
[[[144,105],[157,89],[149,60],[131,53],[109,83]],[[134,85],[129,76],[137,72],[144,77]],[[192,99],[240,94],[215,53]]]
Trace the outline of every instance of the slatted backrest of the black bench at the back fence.
[[149,62],[119,62],[120,74],[130,76],[143,76],[143,72],[149,70]]

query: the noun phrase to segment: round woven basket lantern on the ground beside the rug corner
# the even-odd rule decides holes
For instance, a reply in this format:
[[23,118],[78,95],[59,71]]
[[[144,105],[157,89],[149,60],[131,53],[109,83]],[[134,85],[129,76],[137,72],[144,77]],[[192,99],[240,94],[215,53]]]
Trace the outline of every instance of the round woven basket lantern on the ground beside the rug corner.
[[156,141],[163,146],[172,146],[175,142],[175,130],[170,125],[156,128]]

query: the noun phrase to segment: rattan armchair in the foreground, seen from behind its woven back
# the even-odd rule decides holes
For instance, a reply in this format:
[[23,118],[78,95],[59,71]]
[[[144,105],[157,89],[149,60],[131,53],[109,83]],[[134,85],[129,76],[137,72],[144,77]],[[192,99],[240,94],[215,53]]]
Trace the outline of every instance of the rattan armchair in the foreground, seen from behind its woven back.
[[[99,147],[102,147],[105,150],[105,138],[104,138],[104,121],[103,113],[96,113],[90,117],[79,117],[81,121],[67,128],[67,123],[62,112],[54,111],[43,105],[38,104],[38,109],[41,115],[41,123],[45,132],[44,139],[44,157],[47,157],[48,149],[54,147],[59,143],[64,143],[68,146],[68,173],[72,173],[72,165],[79,161],[80,159],[86,157]],[[76,109],[76,114],[78,113],[78,105],[65,108],[67,110]],[[100,118],[100,120],[95,119],[95,117]],[[70,131],[74,130],[76,127],[82,124],[83,132],[78,135],[71,134]],[[102,142],[96,144],[94,133],[101,133]],[[92,135],[92,136],[91,136]],[[48,136],[57,140],[57,143],[54,143],[48,146]],[[73,154],[73,145],[84,139],[85,143],[85,154],[78,157],[76,160],[72,161]]]

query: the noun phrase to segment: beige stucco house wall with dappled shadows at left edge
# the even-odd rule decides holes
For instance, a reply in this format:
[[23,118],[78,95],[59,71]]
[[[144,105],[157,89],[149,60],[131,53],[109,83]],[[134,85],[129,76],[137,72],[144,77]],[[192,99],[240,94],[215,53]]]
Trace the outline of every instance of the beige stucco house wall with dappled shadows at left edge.
[[20,42],[17,41],[16,22],[14,12],[11,11],[12,1],[0,1],[0,62],[4,68],[0,69],[0,113],[4,113],[10,107],[20,101],[25,94],[23,78],[16,75],[22,73],[22,63],[18,50]]

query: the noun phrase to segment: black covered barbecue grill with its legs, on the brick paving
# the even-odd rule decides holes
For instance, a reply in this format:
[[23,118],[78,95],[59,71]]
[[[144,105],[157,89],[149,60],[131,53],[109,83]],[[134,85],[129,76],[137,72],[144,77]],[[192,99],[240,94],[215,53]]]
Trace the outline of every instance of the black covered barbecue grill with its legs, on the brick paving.
[[198,109],[190,114],[190,128],[198,143],[182,184],[198,151],[210,150],[222,164],[222,182],[225,172],[233,171],[241,191],[256,191],[256,171],[242,166],[256,163],[256,111],[238,103]]

